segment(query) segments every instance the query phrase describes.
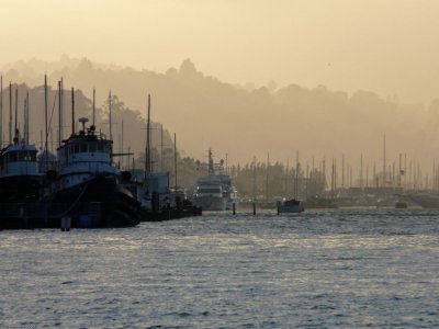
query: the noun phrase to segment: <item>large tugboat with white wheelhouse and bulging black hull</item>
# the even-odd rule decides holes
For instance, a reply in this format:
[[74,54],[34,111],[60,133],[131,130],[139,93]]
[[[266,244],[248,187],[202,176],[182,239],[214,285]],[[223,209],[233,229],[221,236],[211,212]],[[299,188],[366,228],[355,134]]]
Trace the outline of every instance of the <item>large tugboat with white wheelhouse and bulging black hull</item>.
[[57,149],[58,172],[49,185],[50,203],[75,207],[78,203],[99,204],[100,215],[82,214],[71,218],[72,227],[127,227],[139,223],[139,204],[119,184],[119,170],[112,166],[113,140],[97,133],[94,125],[72,132]]

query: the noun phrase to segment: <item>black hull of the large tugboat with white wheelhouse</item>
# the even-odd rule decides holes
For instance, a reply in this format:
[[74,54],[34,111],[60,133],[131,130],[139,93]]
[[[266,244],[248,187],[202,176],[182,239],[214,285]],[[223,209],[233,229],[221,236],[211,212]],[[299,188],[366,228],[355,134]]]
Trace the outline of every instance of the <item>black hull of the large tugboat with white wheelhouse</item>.
[[[139,223],[139,203],[131,192],[119,185],[109,177],[97,177],[88,182],[65,189],[55,193],[50,200],[54,204],[70,204],[70,214],[56,214],[55,217],[71,217],[71,227],[128,227]],[[99,204],[99,214],[95,212],[75,211],[77,203]],[[63,216],[65,215],[65,216]]]

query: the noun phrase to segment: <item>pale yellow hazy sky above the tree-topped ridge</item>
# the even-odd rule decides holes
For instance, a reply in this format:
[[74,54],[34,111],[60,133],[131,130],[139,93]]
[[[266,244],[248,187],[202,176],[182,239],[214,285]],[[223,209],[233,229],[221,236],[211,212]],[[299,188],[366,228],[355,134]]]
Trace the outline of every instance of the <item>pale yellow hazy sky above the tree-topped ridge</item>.
[[0,66],[63,53],[227,82],[439,98],[437,0],[2,0]]

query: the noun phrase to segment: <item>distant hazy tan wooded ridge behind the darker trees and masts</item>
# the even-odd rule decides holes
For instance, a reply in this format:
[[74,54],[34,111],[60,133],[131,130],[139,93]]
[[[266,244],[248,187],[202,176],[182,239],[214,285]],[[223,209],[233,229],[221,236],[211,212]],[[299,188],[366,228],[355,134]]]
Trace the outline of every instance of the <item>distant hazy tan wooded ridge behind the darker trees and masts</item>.
[[[217,158],[227,154],[232,163],[250,162],[254,156],[266,159],[267,154],[271,161],[286,162],[299,150],[309,163],[313,157],[317,163],[323,157],[346,155],[358,168],[362,154],[364,166],[375,162],[382,168],[385,135],[387,164],[406,154],[407,159],[430,168],[439,143],[439,100],[425,106],[401,104],[396,97],[383,99],[372,91],[348,94],[324,86],[234,86],[200,72],[190,59],[179,68],[155,72],[64,55],[54,63],[20,60],[1,72],[3,83],[31,87],[42,84],[44,72],[53,88],[63,77],[66,89],[80,89],[89,99],[94,87],[98,105],[111,90],[123,106],[143,117],[150,93],[153,120],[162,123],[170,135],[176,133],[179,148],[194,158],[202,158],[212,147]],[[131,143],[137,152],[144,147],[138,136],[138,129],[125,129],[125,145]]]

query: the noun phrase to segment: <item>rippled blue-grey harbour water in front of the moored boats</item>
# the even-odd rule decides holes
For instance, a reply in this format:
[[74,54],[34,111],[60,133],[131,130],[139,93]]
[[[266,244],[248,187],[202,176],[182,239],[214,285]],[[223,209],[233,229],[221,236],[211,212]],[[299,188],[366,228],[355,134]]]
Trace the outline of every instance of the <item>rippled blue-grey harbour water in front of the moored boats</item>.
[[439,326],[439,212],[0,231],[1,328]]

